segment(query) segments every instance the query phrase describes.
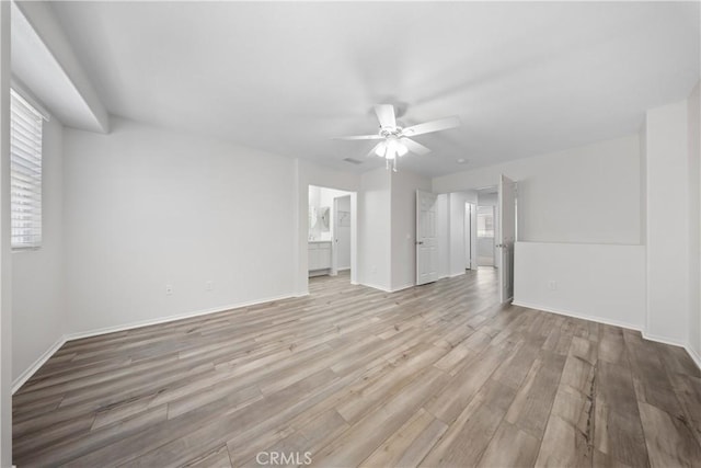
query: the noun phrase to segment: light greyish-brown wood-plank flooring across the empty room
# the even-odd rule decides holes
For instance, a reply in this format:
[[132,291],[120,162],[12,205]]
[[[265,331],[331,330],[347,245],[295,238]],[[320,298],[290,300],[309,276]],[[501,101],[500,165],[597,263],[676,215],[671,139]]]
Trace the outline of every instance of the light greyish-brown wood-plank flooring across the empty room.
[[498,306],[491,269],[310,289],[66,343],[14,396],[14,463],[701,466],[701,373],[679,347]]

